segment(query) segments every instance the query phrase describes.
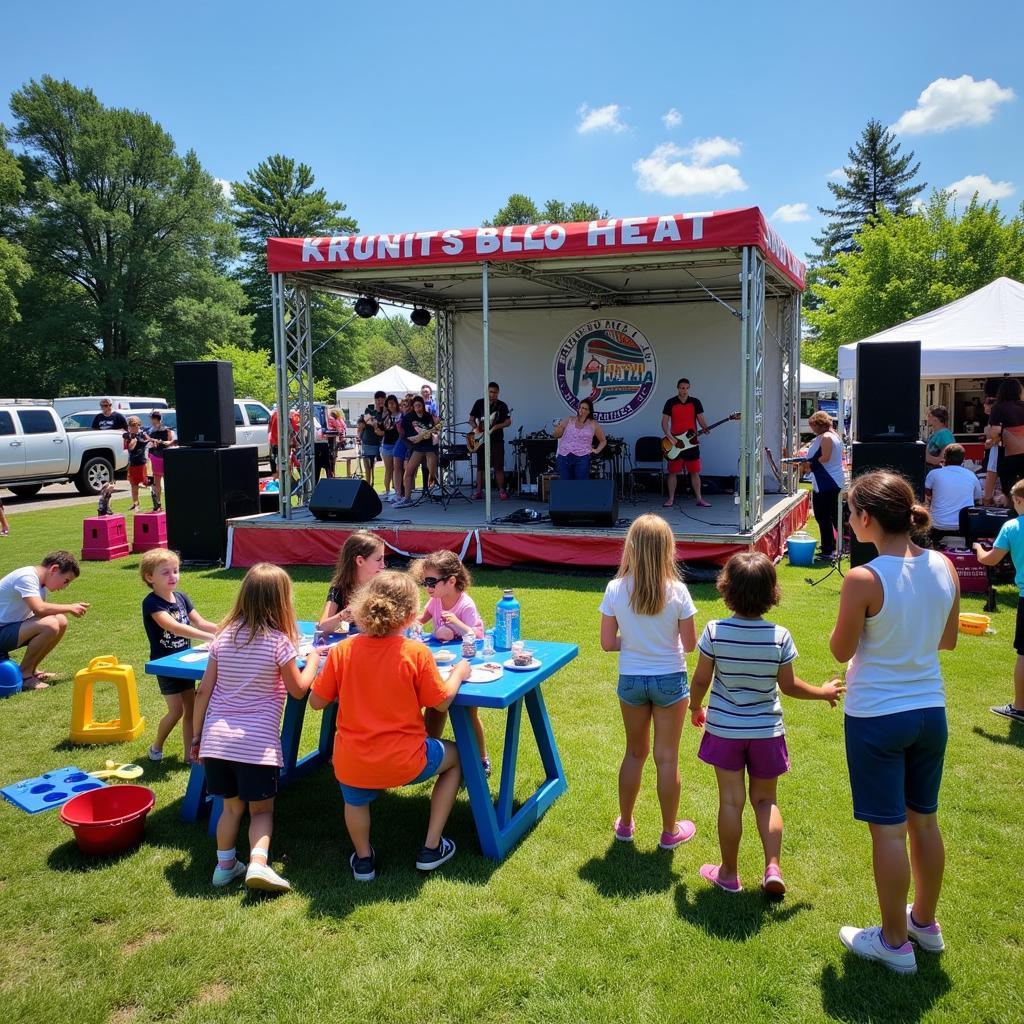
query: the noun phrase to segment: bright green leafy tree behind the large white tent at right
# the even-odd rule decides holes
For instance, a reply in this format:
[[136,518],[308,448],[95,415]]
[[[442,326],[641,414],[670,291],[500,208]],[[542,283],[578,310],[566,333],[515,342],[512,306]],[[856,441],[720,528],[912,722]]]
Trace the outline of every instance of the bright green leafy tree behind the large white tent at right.
[[840,345],[920,316],[999,276],[1024,280],[1024,208],[1007,220],[994,203],[972,200],[957,216],[936,190],[908,217],[883,210],[855,237],[856,248],[822,268],[819,299],[806,319],[813,336],[802,357],[835,373]]

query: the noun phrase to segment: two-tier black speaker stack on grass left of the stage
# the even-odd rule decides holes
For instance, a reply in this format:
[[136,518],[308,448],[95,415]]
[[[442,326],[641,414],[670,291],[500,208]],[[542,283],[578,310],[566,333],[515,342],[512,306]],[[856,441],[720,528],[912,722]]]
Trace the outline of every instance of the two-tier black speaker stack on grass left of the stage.
[[164,453],[167,543],[184,562],[223,561],[227,519],[256,515],[255,445],[234,444],[230,362],[174,364],[178,444]]

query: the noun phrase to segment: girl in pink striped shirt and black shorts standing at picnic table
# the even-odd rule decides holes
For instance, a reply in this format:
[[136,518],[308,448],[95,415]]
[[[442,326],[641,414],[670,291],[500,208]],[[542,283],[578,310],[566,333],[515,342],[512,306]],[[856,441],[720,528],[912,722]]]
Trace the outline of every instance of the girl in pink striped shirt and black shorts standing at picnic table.
[[[205,768],[209,793],[224,802],[217,821],[215,886],[244,874],[250,889],[291,889],[267,863],[284,763],[281,714],[288,694],[301,697],[308,691],[326,651],[314,648],[300,672],[298,638],[288,573],[267,562],[254,565],[210,645],[196,696],[191,759]],[[247,804],[248,868],[234,855]]]

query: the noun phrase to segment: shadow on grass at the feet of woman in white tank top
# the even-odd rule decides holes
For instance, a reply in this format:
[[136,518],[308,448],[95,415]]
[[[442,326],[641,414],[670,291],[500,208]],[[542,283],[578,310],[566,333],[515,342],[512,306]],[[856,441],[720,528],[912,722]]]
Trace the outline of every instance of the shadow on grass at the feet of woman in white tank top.
[[833,964],[821,973],[822,1009],[834,1020],[855,1024],[921,1020],[949,991],[950,983],[938,956],[916,956],[918,973],[907,976],[847,951],[842,976]]

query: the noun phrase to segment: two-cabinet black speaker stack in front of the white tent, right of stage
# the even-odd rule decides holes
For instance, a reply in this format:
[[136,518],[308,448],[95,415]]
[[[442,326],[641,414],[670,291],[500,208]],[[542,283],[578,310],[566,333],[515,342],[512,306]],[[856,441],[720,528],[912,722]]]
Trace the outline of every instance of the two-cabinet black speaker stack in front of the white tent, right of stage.
[[[856,413],[853,477],[890,470],[905,477],[924,502],[920,341],[862,341],[857,345]],[[851,565],[863,565],[877,555],[873,544],[861,544],[851,530]]]

